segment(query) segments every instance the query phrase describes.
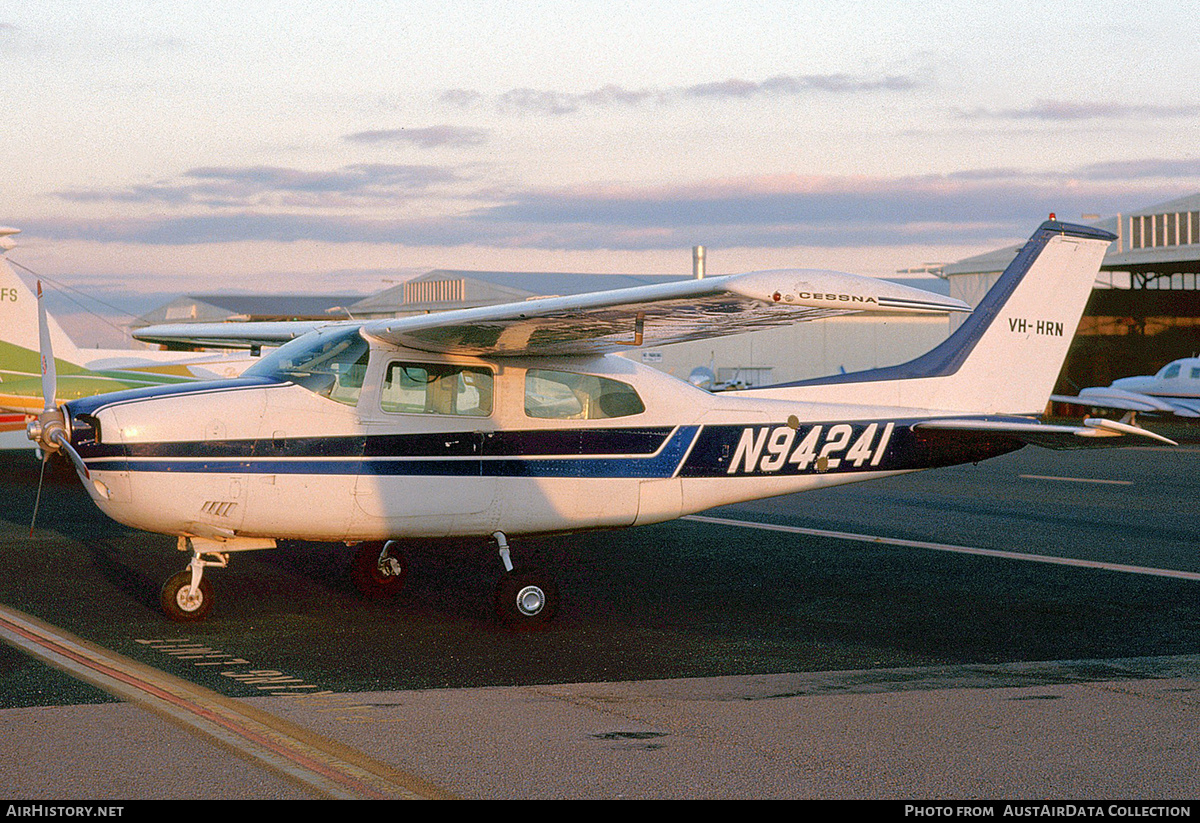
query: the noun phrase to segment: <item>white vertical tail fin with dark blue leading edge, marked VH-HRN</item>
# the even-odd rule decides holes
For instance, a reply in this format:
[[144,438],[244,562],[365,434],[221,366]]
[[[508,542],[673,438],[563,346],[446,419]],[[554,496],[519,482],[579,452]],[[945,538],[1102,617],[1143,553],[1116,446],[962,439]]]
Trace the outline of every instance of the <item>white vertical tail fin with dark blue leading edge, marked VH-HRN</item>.
[[804,401],[978,414],[1040,414],[1100,262],[1116,238],[1048,221],[941,346],[899,366],[772,386]]

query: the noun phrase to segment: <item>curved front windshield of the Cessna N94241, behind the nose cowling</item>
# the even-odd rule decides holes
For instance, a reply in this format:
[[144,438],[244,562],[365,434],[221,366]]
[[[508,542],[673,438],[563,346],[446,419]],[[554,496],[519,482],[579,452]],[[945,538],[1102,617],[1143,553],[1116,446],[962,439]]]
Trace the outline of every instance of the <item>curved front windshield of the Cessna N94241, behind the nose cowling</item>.
[[355,329],[331,329],[298,337],[246,370],[251,377],[295,383],[346,406],[362,394],[371,347]]

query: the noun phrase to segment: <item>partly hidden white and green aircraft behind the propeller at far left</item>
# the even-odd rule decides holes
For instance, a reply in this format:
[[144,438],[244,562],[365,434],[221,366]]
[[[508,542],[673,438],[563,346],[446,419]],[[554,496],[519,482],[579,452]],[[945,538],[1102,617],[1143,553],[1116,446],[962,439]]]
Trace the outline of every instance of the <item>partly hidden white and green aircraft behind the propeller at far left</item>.
[[[44,407],[38,354],[37,298],[6,257],[19,229],[0,228],[0,433],[24,432]],[[58,400],[199,379],[236,377],[257,359],[245,355],[82,349],[53,317],[46,319],[53,342]],[[0,449],[29,447],[29,439],[5,439]]]

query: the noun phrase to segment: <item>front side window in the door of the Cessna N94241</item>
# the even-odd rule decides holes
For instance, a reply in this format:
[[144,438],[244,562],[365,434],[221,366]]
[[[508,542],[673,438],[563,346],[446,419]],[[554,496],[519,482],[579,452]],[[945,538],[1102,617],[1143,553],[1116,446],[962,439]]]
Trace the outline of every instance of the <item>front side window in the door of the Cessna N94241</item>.
[[492,373],[452,364],[389,364],[379,404],[392,414],[486,417],[492,413]]

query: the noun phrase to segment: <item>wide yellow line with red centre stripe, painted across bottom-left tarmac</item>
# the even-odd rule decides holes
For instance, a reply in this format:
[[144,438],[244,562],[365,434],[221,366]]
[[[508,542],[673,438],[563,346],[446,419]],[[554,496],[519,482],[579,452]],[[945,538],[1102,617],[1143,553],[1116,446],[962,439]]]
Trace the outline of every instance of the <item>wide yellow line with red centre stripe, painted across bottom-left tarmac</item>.
[[332,799],[450,799],[413,775],[265,711],[0,606],[0,639],[110,695],[232,747]]

